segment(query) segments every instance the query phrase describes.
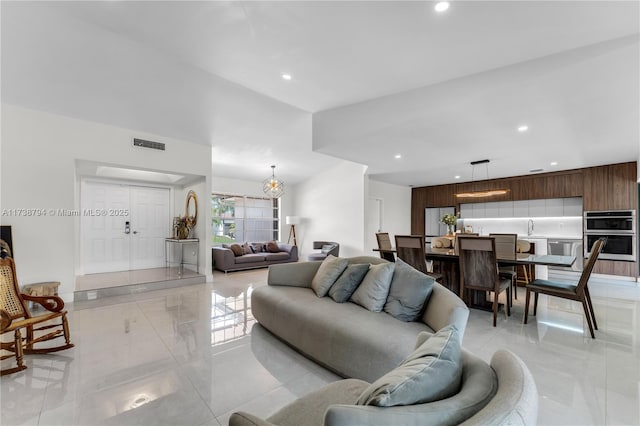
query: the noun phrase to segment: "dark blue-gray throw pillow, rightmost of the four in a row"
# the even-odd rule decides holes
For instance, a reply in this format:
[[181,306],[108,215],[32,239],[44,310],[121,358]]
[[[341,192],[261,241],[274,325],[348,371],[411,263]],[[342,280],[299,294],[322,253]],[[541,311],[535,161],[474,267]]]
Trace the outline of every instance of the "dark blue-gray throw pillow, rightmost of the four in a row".
[[384,311],[400,321],[415,321],[433,291],[434,280],[402,261],[396,259],[391,289]]

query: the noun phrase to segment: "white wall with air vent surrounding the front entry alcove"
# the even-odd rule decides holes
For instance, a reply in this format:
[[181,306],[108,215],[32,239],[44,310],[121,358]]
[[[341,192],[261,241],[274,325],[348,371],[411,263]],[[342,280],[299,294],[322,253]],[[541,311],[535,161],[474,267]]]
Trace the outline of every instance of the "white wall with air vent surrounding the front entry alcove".
[[[133,147],[133,137],[165,142],[166,151]],[[205,177],[205,183],[198,189],[201,192],[199,199],[208,200],[210,193],[205,191],[211,186],[210,146],[7,104],[2,105],[1,154],[0,197],[5,211],[79,209],[75,176],[75,161],[78,159],[201,175]],[[72,300],[76,251],[79,249],[78,223],[77,217],[17,217],[6,214],[2,217],[2,224],[13,226],[21,283],[60,281],[61,296]],[[209,247],[209,244],[202,244],[200,250],[208,252]],[[211,256],[203,258],[204,271],[210,277]]]

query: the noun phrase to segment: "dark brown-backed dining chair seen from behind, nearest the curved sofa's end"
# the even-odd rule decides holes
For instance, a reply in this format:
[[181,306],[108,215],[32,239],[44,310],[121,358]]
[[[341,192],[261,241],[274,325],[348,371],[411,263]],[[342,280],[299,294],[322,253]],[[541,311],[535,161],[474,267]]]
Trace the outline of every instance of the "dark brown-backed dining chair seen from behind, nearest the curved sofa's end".
[[496,240],[493,237],[458,238],[460,262],[460,297],[465,300],[467,290],[493,292],[493,326],[498,316],[498,297],[506,291],[505,308],[507,316],[511,315],[509,298],[511,279],[503,278],[498,273],[496,258]]

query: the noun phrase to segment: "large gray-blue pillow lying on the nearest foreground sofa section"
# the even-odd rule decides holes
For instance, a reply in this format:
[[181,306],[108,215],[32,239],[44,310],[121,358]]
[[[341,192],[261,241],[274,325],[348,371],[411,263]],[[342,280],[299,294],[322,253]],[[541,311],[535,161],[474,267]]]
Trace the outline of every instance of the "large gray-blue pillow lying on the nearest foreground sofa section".
[[428,338],[399,367],[373,382],[356,404],[392,407],[448,398],[460,389],[460,339],[454,325]]

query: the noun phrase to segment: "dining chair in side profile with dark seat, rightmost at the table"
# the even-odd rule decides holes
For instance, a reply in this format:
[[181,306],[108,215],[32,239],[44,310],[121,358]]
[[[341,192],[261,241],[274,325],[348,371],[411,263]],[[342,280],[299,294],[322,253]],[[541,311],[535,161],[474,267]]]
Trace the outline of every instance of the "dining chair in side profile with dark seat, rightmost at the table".
[[529,284],[527,284],[527,296],[524,306],[524,323],[527,323],[527,319],[529,316],[529,299],[532,292],[535,293],[535,300],[533,302],[533,315],[536,315],[538,311],[538,295],[540,293],[546,294],[547,296],[555,296],[561,297],[563,299],[575,300],[576,302],[582,303],[584,315],[587,318],[587,324],[589,325],[589,331],[591,332],[591,338],[595,339],[596,335],[593,330],[594,328],[596,330],[598,329],[598,323],[596,322],[596,315],[593,311],[593,303],[591,303],[591,295],[589,294],[589,287],[587,283],[589,281],[589,278],[591,277],[591,271],[596,264],[596,260],[598,260],[598,256],[600,255],[600,252],[602,251],[602,248],[604,247],[606,242],[606,238],[599,238],[593,244],[589,260],[584,266],[577,284],[539,279],[533,280]]

